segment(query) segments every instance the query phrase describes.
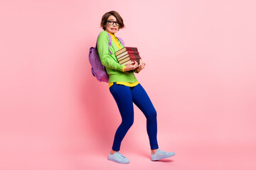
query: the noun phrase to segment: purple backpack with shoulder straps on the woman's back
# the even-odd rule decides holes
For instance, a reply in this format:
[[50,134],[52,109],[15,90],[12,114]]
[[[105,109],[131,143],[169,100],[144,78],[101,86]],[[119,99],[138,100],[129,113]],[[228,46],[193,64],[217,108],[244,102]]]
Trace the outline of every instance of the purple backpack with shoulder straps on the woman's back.
[[[112,37],[109,33],[107,33],[109,35],[109,50],[110,50],[110,46],[112,43]],[[122,45],[124,46],[124,41],[121,38],[117,38]],[[112,52],[110,51],[110,55],[112,55]],[[102,63],[100,62],[100,57],[99,57],[99,53],[97,51],[97,42],[96,42],[96,47],[90,47],[89,50],[89,62],[92,66],[92,75],[94,77],[96,77],[96,79],[98,81],[104,81],[107,82],[109,81],[109,75],[106,72],[105,67],[102,65]]]

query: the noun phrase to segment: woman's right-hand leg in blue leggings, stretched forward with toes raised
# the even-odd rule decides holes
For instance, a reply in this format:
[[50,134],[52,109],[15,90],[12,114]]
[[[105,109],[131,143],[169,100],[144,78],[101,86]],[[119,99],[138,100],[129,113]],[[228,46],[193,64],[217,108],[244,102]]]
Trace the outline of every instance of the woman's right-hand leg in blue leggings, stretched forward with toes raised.
[[151,103],[149,96],[143,89],[141,84],[134,86],[132,89],[132,100],[136,106],[146,116],[146,131],[149,135],[149,142],[151,149],[158,149],[158,143],[156,139],[157,134],[157,121],[156,121],[156,110]]

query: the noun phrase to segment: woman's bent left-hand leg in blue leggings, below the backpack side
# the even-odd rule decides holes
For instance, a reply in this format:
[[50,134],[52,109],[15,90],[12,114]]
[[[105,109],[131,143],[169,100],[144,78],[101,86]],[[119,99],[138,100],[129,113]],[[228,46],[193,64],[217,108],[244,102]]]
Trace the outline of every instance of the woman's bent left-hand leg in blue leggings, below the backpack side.
[[114,100],[117,102],[117,106],[122,117],[122,123],[119,125],[119,128],[117,128],[112,145],[112,149],[114,151],[119,151],[124,136],[134,123],[132,94],[130,87],[115,83],[110,87],[110,92],[114,97]]

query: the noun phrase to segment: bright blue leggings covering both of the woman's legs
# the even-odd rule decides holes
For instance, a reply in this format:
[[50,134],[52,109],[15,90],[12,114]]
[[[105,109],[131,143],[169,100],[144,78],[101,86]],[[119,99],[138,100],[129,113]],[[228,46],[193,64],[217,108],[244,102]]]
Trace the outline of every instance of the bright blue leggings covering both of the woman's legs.
[[114,83],[110,87],[110,92],[117,102],[122,117],[122,123],[119,125],[119,128],[117,128],[117,132],[114,135],[112,149],[114,151],[120,150],[120,145],[124,136],[134,123],[133,103],[146,116],[146,132],[149,135],[151,149],[158,149],[159,147],[156,140],[156,110],[142,85],[138,84],[137,86],[129,87]]

